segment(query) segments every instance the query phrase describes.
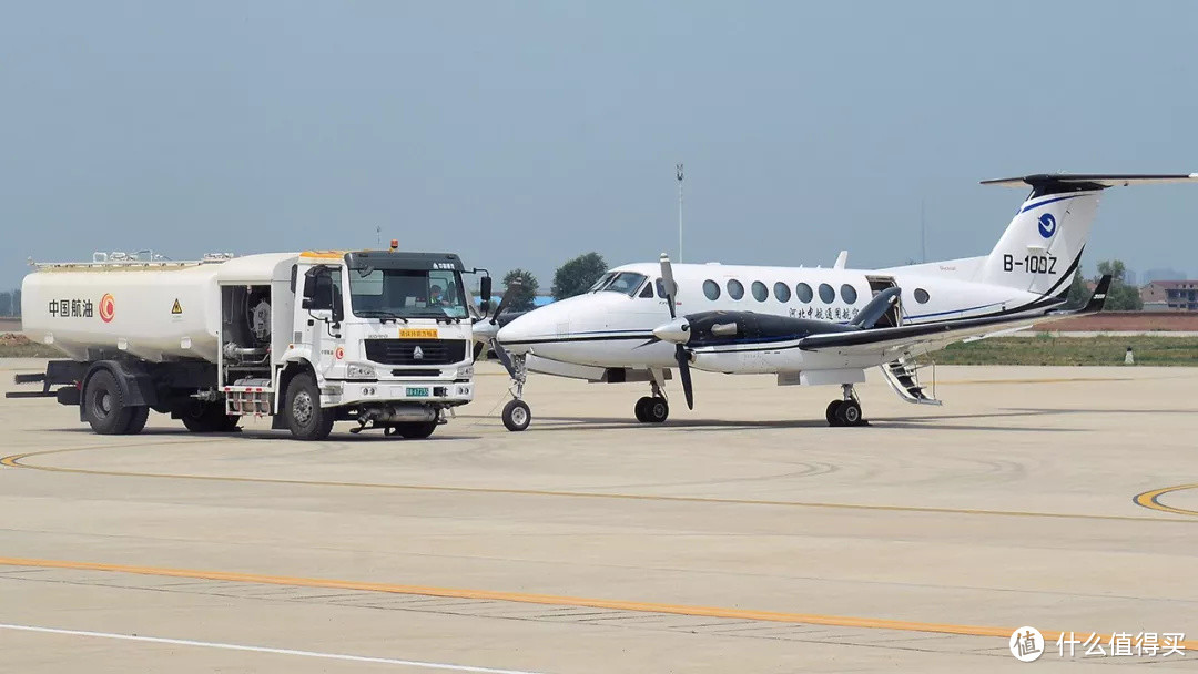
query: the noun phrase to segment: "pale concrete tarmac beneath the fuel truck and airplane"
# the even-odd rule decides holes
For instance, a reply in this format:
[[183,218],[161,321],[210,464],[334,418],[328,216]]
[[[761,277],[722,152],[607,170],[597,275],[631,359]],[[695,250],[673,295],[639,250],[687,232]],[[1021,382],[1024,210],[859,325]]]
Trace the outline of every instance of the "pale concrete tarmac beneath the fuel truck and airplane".
[[[1024,625],[1036,667],[1198,670],[1198,370],[939,368],[943,407],[871,372],[859,429],[772,377],[653,426],[533,376],[522,433],[479,370],[428,441],[0,402],[0,670],[990,672]],[[1109,655],[1140,632],[1184,652]]]

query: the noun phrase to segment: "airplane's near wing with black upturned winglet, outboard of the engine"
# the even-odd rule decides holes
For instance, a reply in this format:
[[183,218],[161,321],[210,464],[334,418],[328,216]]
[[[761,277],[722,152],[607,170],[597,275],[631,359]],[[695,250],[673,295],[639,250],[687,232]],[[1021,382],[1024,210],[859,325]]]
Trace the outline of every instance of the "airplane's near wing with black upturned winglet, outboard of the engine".
[[1077,311],[1049,311],[1039,316],[993,316],[988,318],[962,318],[898,328],[872,328],[846,333],[821,333],[799,340],[804,351],[825,351],[843,354],[864,354],[910,351],[933,351],[968,338],[980,339],[999,333],[1010,333],[1031,327],[1034,323],[1057,321],[1069,316],[1095,314],[1102,310],[1111,289],[1111,277],[1102,277],[1094,289],[1090,300]]

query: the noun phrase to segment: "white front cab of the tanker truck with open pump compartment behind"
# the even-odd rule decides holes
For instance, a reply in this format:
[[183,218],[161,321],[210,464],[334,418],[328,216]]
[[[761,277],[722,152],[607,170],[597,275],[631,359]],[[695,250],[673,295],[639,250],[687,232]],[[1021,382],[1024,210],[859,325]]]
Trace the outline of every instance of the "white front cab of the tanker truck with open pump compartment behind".
[[249,316],[243,329],[226,322],[225,413],[268,407],[276,426],[308,439],[339,420],[356,421],[355,432],[426,437],[473,397],[464,272],[453,254],[305,251],[285,287],[222,279],[223,314]]

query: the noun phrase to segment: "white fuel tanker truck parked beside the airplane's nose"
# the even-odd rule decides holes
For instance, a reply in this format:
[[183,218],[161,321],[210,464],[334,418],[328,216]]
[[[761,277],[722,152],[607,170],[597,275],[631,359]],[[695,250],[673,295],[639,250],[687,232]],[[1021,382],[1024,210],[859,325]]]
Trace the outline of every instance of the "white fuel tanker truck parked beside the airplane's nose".
[[[41,391],[8,395],[56,397],[104,435],[137,433],[155,411],[199,433],[268,415],[300,439],[335,421],[424,438],[474,391],[464,273],[456,255],[394,242],[41,263],[22,285],[23,329],[67,359],[17,376]],[[489,299],[490,275],[480,286]]]

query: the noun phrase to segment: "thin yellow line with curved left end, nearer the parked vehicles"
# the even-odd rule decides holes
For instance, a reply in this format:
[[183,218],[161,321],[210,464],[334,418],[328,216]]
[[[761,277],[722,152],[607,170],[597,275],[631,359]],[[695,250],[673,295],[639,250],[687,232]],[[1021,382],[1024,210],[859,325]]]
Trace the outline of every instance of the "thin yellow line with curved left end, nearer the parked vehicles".
[[[193,441],[194,442],[194,441]],[[132,445],[135,447],[135,445]],[[49,454],[60,454],[67,451],[84,451],[93,449],[113,449],[123,448],[122,445],[108,445],[104,448],[86,447],[86,448],[67,448],[67,449],[50,449],[43,451],[30,451],[25,454],[13,454],[0,459],[0,466],[8,468],[25,468],[31,470],[46,470],[50,473],[73,473],[80,475],[103,475],[103,476],[115,476],[115,478],[149,478],[149,479],[167,479],[167,480],[198,480],[198,481],[220,481],[220,482],[244,482],[244,484],[265,484],[265,485],[305,485],[305,486],[323,486],[323,487],[349,487],[349,488],[377,488],[377,490],[397,490],[397,491],[423,491],[423,492],[444,492],[444,493],[480,493],[480,494],[509,494],[509,496],[531,496],[531,497],[556,497],[556,498],[586,498],[586,499],[610,499],[610,500],[641,500],[641,502],[658,502],[658,503],[695,503],[695,504],[713,504],[713,505],[758,505],[758,506],[773,506],[773,508],[813,508],[813,509],[833,509],[833,510],[863,510],[863,511],[887,511],[887,512],[916,512],[916,514],[931,514],[931,515],[975,515],[975,516],[993,516],[993,517],[1040,517],[1048,520],[1085,520],[1085,521],[1114,521],[1114,522],[1156,522],[1156,523],[1169,523],[1169,524],[1198,524],[1198,512],[1187,511],[1180,509],[1167,509],[1167,506],[1151,508],[1152,510],[1158,510],[1161,512],[1167,512],[1170,515],[1185,515],[1190,518],[1176,518],[1176,517],[1145,517],[1142,515],[1095,515],[1087,512],[1035,512],[1027,510],[984,510],[984,509],[969,509],[969,508],[939,508],[939,506],[927,506],[927,505],[884,505],[884,504],[864,504],[864,503],[818,503],[818,502],[799,502],[799,500],[769,500],[769,499],[744,499],[744,498],[718,498],[718,497],[700,497],[700,496],[668,496],[668,494],[645,494],[645,493],[618,493],[618,492],[587,492],[587,491],[555,491],[555,490],[521,490],[521,488],[509,488],[509,487],[461,487],[461,486],[446,486],[446,485],[401,485],[401,484],[386,484],[386,482],[346,482],[346,481],[325,481],[325,480],[301,480],[301,479],[289,479],[289,478],[250,478],[243,475],[193,475],[183,473],[137,473],[127,470],[98,470],[90,468],[63,468],[59,466],[37,466],[32,463],[24,463],[23,461],[35,456],[44,456]],[[1180,487],[1179,487],[1180,488]],[[1143,496],[1143,494],[1140,494]],[[1139,497],[1136,497],[1137,499]],[[1137,500],[1137,504],[1140,504]]]

